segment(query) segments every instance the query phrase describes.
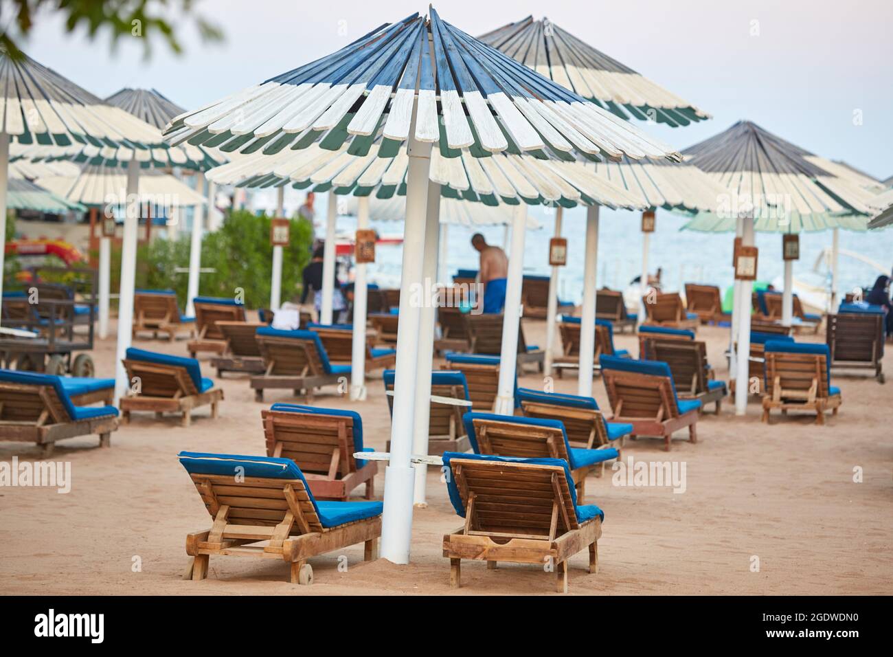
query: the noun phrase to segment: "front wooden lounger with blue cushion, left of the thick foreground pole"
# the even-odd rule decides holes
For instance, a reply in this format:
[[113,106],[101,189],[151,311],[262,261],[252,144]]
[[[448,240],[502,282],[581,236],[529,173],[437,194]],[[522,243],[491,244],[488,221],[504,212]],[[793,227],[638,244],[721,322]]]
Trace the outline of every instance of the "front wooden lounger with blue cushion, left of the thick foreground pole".
[[[186,536],[192,557],[187,579],[207,577],[211,555],[283,560],[291,583],[301,585],[313,584],[307,560],[319,554],[363,543],[363,560],[376,558],[379,501],[325,502],[323,512],[290,459],[180,452],[179,460],[213,518],[210,529]],[[238,472],[242,476],[235,476]],[[327,515],[338,514],[342,504],[353,509],[346,517],[356,519],[339,522],[343,513]],[[263,542],[268,543],[256,544]]]

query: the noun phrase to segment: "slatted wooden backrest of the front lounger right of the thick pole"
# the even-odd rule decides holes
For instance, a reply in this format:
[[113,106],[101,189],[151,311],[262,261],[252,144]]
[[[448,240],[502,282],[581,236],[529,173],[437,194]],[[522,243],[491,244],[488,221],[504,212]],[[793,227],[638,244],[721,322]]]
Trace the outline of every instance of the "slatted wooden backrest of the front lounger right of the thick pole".
[[579,527],[572,485],[561,466],[450,459],[450,469],[472,532],[547,538],[557,513],[555,535]]

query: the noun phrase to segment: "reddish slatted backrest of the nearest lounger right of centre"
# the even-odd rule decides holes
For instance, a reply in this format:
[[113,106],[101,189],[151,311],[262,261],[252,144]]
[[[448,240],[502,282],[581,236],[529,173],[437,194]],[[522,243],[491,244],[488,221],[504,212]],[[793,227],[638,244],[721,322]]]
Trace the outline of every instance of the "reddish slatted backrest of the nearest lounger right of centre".
[[616,369],[603,369],[602,377],[615,416],[679,417],[669,378]]

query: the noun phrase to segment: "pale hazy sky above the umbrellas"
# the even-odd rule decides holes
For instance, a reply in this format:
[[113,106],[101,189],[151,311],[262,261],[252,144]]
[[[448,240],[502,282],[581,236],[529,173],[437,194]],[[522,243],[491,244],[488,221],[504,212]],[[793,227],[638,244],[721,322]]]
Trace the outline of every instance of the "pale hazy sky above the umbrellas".
[[[146,59],[142,38],[121,38],[113,49],[107,35],[96,41],[83,30],[66,36],[63,21],[45,10],[22,48],[97,96],[122,87],[157,88],[190,109],[428,7],[406,0],[199,0],[195,5],[223,31],[221,43],[203,43],[191,21],[169,10],[185,53],[173,55],[155,42]],[[893,175],[889,0],[435,4],[444,20],[472,36],[530,14],[542,18],[544,7],[555,25],[713,114],[713,120],[686,128],[640,123],[673,146],[687,147],[747,119],[876,178]]]

